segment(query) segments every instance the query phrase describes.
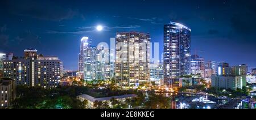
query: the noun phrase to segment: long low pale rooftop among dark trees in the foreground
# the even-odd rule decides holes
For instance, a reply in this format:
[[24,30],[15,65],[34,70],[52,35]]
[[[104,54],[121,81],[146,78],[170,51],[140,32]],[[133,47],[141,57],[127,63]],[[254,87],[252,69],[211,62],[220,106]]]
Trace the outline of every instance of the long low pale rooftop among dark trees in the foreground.
[[83,97],[86,100],[95,102],[95,101],[108,101],[111,100],[112,98],[118,99],[118,98],[127,98],[127,97],[137,97],[137,95],[131,94],[131,95],[122,95],[122,96],[113,96],[113,97],[101,97],[101,98],[95,98],[89,95],[80,95],[78,97]]

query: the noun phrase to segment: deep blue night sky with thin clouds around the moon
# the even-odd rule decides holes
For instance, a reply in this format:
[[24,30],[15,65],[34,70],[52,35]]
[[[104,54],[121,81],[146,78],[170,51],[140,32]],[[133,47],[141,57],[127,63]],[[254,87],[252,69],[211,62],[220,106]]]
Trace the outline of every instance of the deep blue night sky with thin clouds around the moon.
[[[163,25],[172,20],[192,29],[192,54],[199,50],[206,61],[253,68],[255,6],[254,0],[1,0],[0,52],[22,56],[24,49],[35,48],[77,70],[82,36],[96,46],[117,31],[140,31],[150,33],[151,41],[163,48]],[[95,31],[98,24],[104,31]]]

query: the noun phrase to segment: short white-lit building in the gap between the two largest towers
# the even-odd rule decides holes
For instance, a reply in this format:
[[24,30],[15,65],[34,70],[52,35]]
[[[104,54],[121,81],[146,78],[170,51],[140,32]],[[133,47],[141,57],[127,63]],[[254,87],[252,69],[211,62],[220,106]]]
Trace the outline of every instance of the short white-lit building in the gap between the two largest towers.
[[163,63],[150,63],[150,81],[162,85],[163,76]]

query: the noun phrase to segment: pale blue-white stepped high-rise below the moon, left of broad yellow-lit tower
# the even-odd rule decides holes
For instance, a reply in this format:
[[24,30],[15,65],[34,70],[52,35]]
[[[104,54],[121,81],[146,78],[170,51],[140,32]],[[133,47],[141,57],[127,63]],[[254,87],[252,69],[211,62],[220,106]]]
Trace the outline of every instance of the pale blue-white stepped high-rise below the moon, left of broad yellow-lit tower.
[[[105,46],[106,47],[106,46]],[[81,39],[79,53],[79,75],[83,73],[84,80],[108,80],[114,77],[114,62],[111,61],[111,49],[104,46],[92,46],[89,37]]]

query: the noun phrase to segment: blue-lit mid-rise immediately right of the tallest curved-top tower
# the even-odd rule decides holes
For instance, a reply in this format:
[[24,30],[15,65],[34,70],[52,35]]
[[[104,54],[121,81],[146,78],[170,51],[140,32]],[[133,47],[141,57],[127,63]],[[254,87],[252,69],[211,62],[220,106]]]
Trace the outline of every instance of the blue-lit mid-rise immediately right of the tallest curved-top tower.
[[200,74],[204,78],[204,58],[199,57],[199,55],[191,56],[191,74]]

